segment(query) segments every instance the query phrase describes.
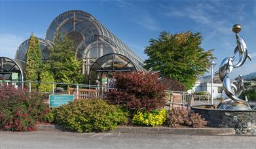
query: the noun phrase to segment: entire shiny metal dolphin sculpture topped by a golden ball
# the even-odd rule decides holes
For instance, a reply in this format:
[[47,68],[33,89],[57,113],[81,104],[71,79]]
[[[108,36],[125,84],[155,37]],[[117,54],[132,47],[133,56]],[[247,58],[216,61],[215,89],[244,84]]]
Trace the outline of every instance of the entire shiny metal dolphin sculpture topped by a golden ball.
[[226,97],[225,101],[220,103],[217,108],[225,110],[251,110],[247,97],[245,100],[239,98],[244,90],[244,81],[242,76],[239,75],[238,79],[235,81],[230,79],[230,73],[232,73],[234,68],[241,67],[246,62],[246,59],[251,60],[251,56],[247,52],[246,42],[238,35],[241,31],[241,25],[235,24],[232,27],[232,31],[236,33],[237,44],[236,48],[234,48],[234,54],[239,52],[239,60],[234,64],[233,62],[236,57],[228,57],[223,59],[219,66],[219,78],[223,82],[223,95]]

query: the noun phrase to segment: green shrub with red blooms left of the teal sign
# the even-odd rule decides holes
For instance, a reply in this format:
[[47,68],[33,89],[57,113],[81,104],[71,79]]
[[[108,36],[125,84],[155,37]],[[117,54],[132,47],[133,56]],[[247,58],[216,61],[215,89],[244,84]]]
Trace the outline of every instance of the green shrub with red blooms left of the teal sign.
[[12,86],[0,86],[0,129],[33,131],[49,112],[45,96]]

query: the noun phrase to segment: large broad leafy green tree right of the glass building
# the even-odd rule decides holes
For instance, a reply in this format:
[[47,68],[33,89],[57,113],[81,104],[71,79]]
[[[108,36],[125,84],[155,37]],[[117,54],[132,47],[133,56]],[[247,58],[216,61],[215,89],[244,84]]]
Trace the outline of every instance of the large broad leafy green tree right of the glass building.
[[151,39],[145,48],[149,56],[145,60],[145,68],[157,71],[161,76],[175,78],[185,84],[189,90],[196,82],[196,76],[208,71],[212,51],[204,52],[200,46],[200,33],[161,32],[158,39]]

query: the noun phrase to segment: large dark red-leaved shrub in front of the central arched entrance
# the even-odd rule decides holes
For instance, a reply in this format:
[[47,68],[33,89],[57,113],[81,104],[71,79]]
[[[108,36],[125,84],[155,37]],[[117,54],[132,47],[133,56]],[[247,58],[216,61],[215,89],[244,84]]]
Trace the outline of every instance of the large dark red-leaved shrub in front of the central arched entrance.
[[156,73],[116,73],[115,88],[105,94],[113,105],[130,110],[153,110],[164,107],[164,86],[158,83]]

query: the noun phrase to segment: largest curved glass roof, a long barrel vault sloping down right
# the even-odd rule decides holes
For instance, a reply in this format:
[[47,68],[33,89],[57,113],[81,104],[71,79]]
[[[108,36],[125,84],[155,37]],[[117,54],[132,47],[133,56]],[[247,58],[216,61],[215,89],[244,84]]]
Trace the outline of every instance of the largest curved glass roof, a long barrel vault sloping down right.
[[[69,35],[70,32],[77,32],[81,34],[82,42],[79,44],[77,49],[77,58],[100,58],[104,54],[114,52],[123,54],[137,65],[143,66],[143,60],[139,58],[136,53],[111,33],[109,29],[96,20],[94,16],[87,12],[81,10],[69,10],[60,14],[48,27],[45,38],[46,41],[52,41],[56,32],[66,33],[67,35]],[[108,47],[107,50],[104,49],[106,53],[99,52],[96,50],[96,46],[94,45],[96,43],[96,39],[100,39],[99,41],[103,43],[101,46],[115,45],[116,47],[113,46]],[[109,42],[113,42],[113,44],[109,44]],[[88,54],[88,51],[90,51],[90,54]]]

